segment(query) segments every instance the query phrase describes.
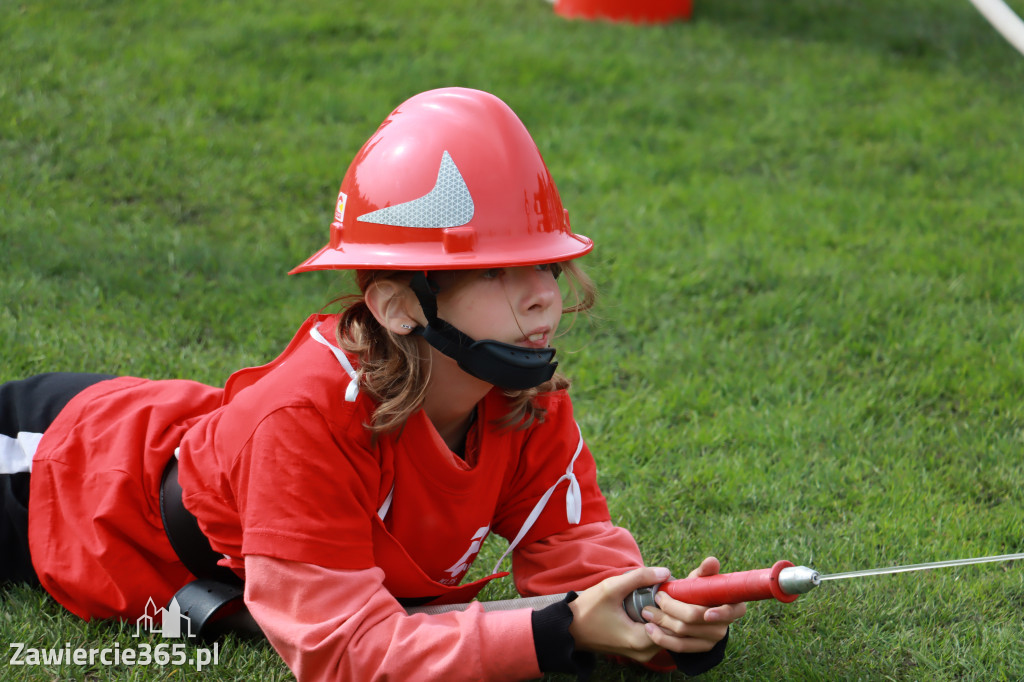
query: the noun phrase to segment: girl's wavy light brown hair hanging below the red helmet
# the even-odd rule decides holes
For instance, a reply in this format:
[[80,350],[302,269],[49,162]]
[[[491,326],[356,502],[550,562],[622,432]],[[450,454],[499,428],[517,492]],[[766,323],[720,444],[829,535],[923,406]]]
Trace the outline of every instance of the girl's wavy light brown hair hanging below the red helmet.
[[[566,276],[571,305],[563,313],[585,312],[594,306],[597,290],[594,283],[572,261],[559,263]],[[378,401],[367,428],[379,436],[399,429],[420,409],[430,378],[430,355],[423,354],[415,335],[395,334],[374,317],[365,294],[376,282],[388,280],[408,284],[411,276],[402,270],[356,270],[355,284],[359,294],[335,300],[345,304],[338,318],[336,338],[341,347],[359,360],[359,389]],[[537,396],[568,388],[569,381],[556,373],[536,388],[505,391],[509,411],[499,420],[503,428],[527,428],[535,421],[543,422],[546,411]]]

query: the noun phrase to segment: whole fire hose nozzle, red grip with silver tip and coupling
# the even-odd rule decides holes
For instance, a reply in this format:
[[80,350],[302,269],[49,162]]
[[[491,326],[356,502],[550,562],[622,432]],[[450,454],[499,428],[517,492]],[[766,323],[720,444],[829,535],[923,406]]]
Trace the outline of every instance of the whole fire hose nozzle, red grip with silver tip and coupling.
[[631,619],[643,623],[643,609],[645,606],[655,605],[654,596],[659,590],[668,592],[669,596],[679,601],[701,606],[763,599],[777,599],[788,603],[820,583],[821,577],[813,568],[795,566],[790,561],[776,561],[771,568],[686,578],[640,588],[626,598],[623,607]]

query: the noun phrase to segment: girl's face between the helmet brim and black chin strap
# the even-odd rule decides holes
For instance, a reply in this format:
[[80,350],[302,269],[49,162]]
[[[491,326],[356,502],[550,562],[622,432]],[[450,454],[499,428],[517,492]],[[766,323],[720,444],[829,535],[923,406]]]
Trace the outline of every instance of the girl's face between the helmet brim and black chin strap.
[[437,272],[437,315],[471,338],[551,345],[562,316],[557,265]]

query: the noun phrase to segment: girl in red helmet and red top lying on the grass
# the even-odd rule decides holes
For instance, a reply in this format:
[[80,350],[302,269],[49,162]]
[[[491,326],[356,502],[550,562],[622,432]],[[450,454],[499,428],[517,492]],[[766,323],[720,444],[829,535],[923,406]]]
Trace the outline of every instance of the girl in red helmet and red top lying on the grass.
[[[3,578],[38,580],[87,620],[175,597],[202,621],[244,590],[299,680],[586,676],[594,654],[710,669],[745,605],[663,594],[647,623],[629,619],[624,598],[669,571],[610,522],[555,374],[562,313],[593,303],[573,262],[591,248],[504,102],[413,97],[349,167],[330,244],[293,270],[353,269],[360,293],[274,361],[222,389],[78,374],[0,386]],[[504,576],[461,584],[492,531],[520,594],[565,599],[407,613]],[[718,569],[708,558],[691,576]]]

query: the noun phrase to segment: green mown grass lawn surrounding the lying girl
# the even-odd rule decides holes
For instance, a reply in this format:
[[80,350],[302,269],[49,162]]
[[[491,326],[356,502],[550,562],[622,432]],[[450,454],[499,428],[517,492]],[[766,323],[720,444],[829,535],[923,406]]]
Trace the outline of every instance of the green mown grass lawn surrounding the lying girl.
[[[0,379],[219,384],[272,357],[341,286],[285,272],[351,156],[410,95],[477,87],[597,243],[601,305],[559,356],[650,563],[1024,551],[1024,57],[968,2],[697,0],[657,27],[541,0],[87,7],[0,5]],[[1019,680],[1022,569],[751,604],[706,678]],[[135,641],[16,589],[0,645],[23,639]],[[265,645],[224,651],[211,679],[289,679]]]

